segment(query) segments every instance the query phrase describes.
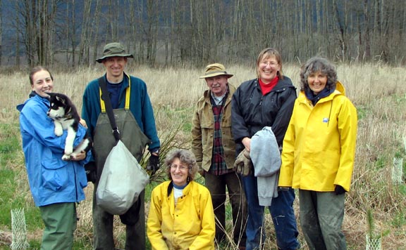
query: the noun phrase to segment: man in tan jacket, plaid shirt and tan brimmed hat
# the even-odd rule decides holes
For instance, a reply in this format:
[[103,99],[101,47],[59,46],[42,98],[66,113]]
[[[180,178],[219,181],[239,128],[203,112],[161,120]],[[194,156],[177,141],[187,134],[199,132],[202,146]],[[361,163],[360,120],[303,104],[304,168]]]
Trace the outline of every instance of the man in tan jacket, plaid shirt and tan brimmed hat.
[[192,119],[192,152],[201,166],[205,185],[211,193],[216,216],[216,242],[226,240],[226,188],[233,212],[233,240],[245,249],[247,205],[240,176],[235,173],[235,143],[231,133],[231,98],[235,86],[228,83],[233,77],[220,63],[207,65],[204,79],[207,91],[198,100]]

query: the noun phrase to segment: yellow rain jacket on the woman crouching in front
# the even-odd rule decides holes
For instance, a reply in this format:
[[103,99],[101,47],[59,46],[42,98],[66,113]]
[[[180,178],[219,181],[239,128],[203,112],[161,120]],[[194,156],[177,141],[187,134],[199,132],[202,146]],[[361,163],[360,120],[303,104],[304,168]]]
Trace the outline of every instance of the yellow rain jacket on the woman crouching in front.
[[147,221],[152,249],[214,250],[216,224],[209,190],[191,181],[175,206],[170,183],[168,180],[152,190]]

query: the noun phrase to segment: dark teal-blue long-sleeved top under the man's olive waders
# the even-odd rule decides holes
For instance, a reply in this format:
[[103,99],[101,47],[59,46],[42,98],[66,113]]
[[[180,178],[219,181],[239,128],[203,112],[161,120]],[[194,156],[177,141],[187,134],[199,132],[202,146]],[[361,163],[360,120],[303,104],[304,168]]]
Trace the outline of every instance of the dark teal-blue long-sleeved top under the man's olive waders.
[[[119,108],[124,108],[125,106],[125,90],[128,88],[128,77],[125,76],[126,74],[124,74],[124,82],[121,86]],[[106,78],[106,75],[104,75],[104,78]],[[156,132],[154,110],[152,109],[152,104],[147,92],[147,85],[137,77],[130,77],[130,80],[130,110],[138,126],[140,126],[142,133],[152,141],[148,147],[148,149],[152,151],[159,148],[160,143],[158,133]],[[99,81],[98,79],[94,79],[87,84],[85,93],[83,94],[82,104],[82,119],[85,119],[92,137],[94,136],[94,128],[96,127],[97,119],[101,113],[99,95]]]

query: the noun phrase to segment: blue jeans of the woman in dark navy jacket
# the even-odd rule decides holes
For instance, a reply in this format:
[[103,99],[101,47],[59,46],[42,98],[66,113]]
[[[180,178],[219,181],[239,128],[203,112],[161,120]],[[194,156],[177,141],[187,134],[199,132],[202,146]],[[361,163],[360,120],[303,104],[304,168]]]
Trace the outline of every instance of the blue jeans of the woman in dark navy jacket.
[[[247,250],[260,249],[265,243],[265,206],[259,206],[257,177],[252,174],[242,177],[242,181],[248,206]],[[269,206],[278,249],[293,250],[300,247],[297,241],[299,232],[297,232],[295,211],[293,211],[294,200],[293,189],[279,190],[278,197],[273,198],[271,206]]]

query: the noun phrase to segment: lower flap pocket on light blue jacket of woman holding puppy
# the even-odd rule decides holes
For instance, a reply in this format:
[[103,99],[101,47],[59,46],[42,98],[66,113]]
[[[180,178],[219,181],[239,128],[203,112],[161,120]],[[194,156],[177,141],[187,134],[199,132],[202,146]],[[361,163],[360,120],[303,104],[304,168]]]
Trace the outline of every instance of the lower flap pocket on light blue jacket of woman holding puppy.
[[42,183],[45,188],[58,191],[68,183],[68,162],[62,159],[42,161]]

